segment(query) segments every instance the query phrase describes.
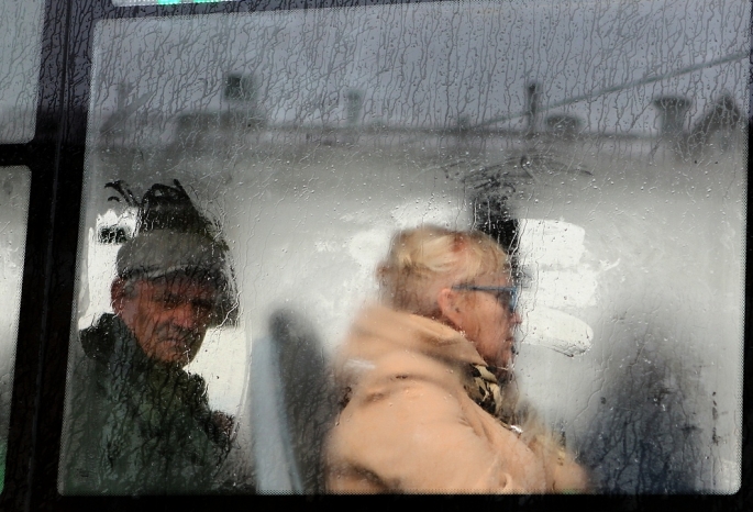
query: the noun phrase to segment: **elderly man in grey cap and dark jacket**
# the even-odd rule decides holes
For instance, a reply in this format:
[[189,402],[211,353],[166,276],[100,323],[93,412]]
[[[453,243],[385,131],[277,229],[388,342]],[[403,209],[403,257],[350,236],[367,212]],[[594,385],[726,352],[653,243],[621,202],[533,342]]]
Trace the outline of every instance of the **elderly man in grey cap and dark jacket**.
[[114,314],[79,336],[86,358],[70,377],[60,490],[217,490],[233,421],[209,409],[203,379],[184,367],[208,327],[235,314],[228,246],[177,180],[142,201],[110,186],[139,208],[139,221],[118,252]]

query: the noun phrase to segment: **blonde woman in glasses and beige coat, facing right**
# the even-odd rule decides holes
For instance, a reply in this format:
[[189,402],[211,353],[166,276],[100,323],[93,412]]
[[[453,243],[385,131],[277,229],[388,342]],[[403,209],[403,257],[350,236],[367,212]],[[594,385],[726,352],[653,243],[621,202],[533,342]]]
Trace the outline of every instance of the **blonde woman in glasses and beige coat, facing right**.
[[398,233],[335,363],[332,492],[583,492],[585,471],[518,405],[517,288],[480,232]]

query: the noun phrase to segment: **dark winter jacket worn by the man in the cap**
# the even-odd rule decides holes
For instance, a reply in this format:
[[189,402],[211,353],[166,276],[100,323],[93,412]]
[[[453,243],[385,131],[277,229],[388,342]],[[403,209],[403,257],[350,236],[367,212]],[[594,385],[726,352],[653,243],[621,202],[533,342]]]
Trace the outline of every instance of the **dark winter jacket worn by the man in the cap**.
[[207,493],[230,449],[230,423],[207,385],[150,359],[111,314],[80,333],[60,457],[64,494]]

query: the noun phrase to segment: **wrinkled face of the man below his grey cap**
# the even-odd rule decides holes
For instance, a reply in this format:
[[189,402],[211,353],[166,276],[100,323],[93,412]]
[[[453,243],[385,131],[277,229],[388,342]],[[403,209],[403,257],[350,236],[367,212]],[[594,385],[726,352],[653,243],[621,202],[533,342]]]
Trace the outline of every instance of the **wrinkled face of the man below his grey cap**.
[[115,314],[128,325],[148,357],[185,366],[203,342],[217,298],[209,282],[186,276],[117,280],[112,286]]

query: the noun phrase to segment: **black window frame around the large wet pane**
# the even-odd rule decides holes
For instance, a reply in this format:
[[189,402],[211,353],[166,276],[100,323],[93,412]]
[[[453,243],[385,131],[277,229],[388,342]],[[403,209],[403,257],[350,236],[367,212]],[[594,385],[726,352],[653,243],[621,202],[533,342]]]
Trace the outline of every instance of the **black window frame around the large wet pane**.
[[[430,0],[431,1],[431,0]],[[79,237],[93,30],[99,20],[186,16],[396,3],[390,0],[239,0],[219,3],[113,7],[111,0],[47,0],[44,5],[38,101],[34,137],[0,144],[0,166],[31,169],[21,311],[10,415],[5,482],[0,510],[202,510],[207,507],[268,507],[280,497],[62,497],[58,456],[66,389],[76,255]],[[411,3],[416,3],[414,1]],[[753,63],[753,54],[751,56]],[[753,65],[753,64],[752,64]],[[753,75],[749,78],[749,93]],[[753,97],[751,99],[753,103]],[[749,148],[753,130],[748,116]],[[750,168],[750,164],[749,164]],[[750,197],[749,180],[748,197]],[[749,209],[750,210],[750,209]],[[750,225],[751,215],[746,213]],[[750,259],[753,230],[746,233]],[[489,507],[505,510],[695,510],[743,511],[753,503],[753,272],[745,268],[745,342],[742,488],[732,496],[432,497],[429,507]],[[390,497],[288,498],[301,508],[331,505],[383,509]],[[414,500],[424,498],[406,498]],[[263,503],[259,502],[263,501]],[[470,500],[472,503],[466,503]],[[268,503],[269,502],[269,503]],[[403,503],[405,504],[405,503]]]

